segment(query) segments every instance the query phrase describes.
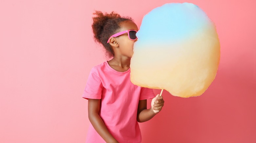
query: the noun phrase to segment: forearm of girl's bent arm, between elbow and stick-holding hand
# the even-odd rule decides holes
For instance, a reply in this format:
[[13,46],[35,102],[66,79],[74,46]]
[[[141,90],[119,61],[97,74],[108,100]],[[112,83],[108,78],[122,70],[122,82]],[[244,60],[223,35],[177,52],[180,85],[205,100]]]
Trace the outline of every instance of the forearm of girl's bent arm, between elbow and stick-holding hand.
[[142,111],[139,112],[137,116],[137,121],[138,122],[145,122],[150,119],[152,119],[157,113],[153,111],[152,108],[149,109],[143,109]]

